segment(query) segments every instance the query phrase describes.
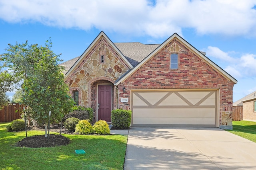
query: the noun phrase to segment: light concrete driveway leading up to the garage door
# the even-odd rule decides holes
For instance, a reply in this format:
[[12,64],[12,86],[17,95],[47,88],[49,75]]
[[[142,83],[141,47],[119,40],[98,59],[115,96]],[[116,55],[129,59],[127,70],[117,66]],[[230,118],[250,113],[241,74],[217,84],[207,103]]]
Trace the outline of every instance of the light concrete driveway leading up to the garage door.
[[256,143],[219,128],[129,130],[124,170],[255,170]]

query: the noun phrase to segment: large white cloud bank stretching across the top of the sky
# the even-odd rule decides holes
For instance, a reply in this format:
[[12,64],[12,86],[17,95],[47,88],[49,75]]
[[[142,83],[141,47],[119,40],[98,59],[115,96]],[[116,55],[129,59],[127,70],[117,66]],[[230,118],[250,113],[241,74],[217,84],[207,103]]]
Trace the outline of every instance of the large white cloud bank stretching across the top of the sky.
[[0,18],[152,37],[182,34],[182,28],[249,37],[256,36],[255,5],[255,0],[6,0],[0,2]]

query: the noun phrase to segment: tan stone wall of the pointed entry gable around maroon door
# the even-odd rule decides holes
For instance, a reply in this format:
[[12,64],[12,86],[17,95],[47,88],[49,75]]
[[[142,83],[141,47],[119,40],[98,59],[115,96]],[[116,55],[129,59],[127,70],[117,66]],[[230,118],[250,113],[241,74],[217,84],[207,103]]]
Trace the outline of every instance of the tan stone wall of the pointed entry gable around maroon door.
[[[82,55],[83,56],[83,55]],[[70,87],[70,93],[79,92],[79,105],[96,108],[97,84],[114,84],[130,70],[125,61],[104,37],[101,37],[94,47],[83,56],[78,66],[68,76],[65,82]],[[114,88],[114,86],[113,86]],[[113,107],[116,106],[116,90],[113,90]]]

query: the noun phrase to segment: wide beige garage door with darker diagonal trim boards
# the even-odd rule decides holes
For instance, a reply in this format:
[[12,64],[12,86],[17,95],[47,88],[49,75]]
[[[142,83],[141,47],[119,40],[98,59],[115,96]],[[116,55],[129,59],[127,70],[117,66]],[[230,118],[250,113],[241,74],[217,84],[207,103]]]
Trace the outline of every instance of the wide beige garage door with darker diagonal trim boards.
[[216,127],[217,90],[132,91],[132,126]]

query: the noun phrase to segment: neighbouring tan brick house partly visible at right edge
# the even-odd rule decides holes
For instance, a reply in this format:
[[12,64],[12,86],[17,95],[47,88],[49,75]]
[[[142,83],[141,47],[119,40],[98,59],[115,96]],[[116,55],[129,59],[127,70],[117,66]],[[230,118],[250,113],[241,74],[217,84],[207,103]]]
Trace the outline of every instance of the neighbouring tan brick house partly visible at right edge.
[[234,102],[233,107],[242,107],[243,120],[256,121],[256,91]]

